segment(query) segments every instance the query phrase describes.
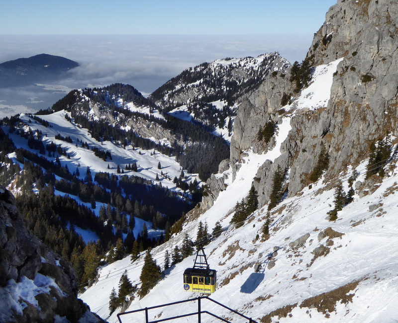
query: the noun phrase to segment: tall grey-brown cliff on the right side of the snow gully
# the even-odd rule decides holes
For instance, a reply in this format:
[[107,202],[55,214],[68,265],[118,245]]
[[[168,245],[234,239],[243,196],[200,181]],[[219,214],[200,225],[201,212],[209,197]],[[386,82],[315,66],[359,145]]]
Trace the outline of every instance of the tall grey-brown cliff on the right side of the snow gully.
[[[388,133],[397,135],[397,22],[395,1],[339,0],[315,34],[308,57],[313,55],[316,64],[343,60],[333,77],[327,107],[306,121],[292,120],[292,126],[295,133],[307,134],[299,146],[316,145],[315,156],[321,142],[328,148],[327,176],[366,159],[370,143]],[[300,153],[301,147],[292,164],[290,194],[307,184],[305,175],[314,166],[302,167],[307,157]]]

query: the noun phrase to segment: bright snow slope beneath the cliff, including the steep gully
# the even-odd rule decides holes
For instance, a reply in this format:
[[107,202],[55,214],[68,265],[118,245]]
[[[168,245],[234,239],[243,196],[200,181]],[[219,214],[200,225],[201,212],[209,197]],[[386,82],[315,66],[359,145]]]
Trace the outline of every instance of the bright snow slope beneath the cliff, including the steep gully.
[[[330,96],[331,78],[337,64],[338,61],[316,68],[313,83],[303,90],[298,102],[293,102],[292,106],[296,104],[296,109],[326,106]],[[245,157],[236,179],[232,182],[231,171],[226,171],[228,186],[219,194],[214,205],[198,219],[189,221],[181,234],[153,249],[154,259],[162,265],[165,250],[172,252],[176,244],[181,246],[184,233],[195,239],[199,221],[207,222],[210,232],[215,222],[220,221],[224,228],[223,233],[205,247],[210,267],[217,270],[218,286],[210,296],[212,299],[257,322],[274,310],[296,303],[291,316],[280,319],[276,317],[273,322],[396,322],[396,170],[389,173],[389,177],[373,194],[362,198],[354,195],[354,201],[338,212],[336,222],[327,219],[327,212],[333,205],[334,190],[326,188],[320,179],[310,189],[303,189],[302,194],[282,201],[270,213],[272,224],[269,240],[262,242],[261,239],[255,239],[257,234],[261,237],[261,227],[268,213],[267,206],[251,215],[241,228],[234,229],[229,225],[236,202],[247,195],[259,166],[266,159],[273,161],[281,154],[280,145],[287,138],[289,130],[290,119],[285,118],[279,125],[276,147],[272,151],[264,155],[244,152]],[[356,169],[360,172],[358,180],[363,180],[366,161]],[[345,191],[348,190],[349,175],[350,173],[341,175]],[[322,239],[319,233],[329,227],[343,235],[327,244],[327,238]],[[305,234],[309,234],[306,242],[294,250],[289,244]],[[314,249],[321,244],[330,248],[329,253],[314,259]],[[273,258],[275,266],[268,268],[267,258],[270,252],[274,251],[274,247],[279,248],[278,254]],[[192,267],[194,258],[190,256],[168,270],[166,277],[143,299],[133,300],[127,311],[200,296],[201,294],[189,293],[183,289],[183,272],[185,268]],[[263,265],[263,270],[256,273],[255,268],[258,264]],[[124,270],[127,270],[133,285],[137,284],[139,287],[142,265],[143,256],[134,263],[131,263],[130,257],[126,257],[101,268],[99,282],[83,293],[81,298],[102,318],[111,323],[117,322],[116,314],[120,309],[108,317],[111,289],[114,287],[117,291]],[[353,294],[352,302],[343,303],[337,298],[335,311],[330,312],[329,318],[314,307],[300,308],[302,301],[354,281],[358,281],[357,287],[347,293]],[[186,303],[184,306],[151,310],[149,319],[156,321],[192,313],[197,311],[197,308],[196,303]],[[231,322],[246,322],[211,302],[202,301],[201,309]],[[122,317],[122,322],[144,322],[143,320],[143,314]],[[202,320],[219,322],[210,316],[203,316]],[[191,317],[173,322],[194,321]]]

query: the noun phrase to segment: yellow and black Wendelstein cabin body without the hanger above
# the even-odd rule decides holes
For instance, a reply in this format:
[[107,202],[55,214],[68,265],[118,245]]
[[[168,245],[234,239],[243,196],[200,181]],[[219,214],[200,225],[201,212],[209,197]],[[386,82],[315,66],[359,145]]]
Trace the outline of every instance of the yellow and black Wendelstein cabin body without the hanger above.
[[188,292],[214,293],[217,271],[208,268],[187,268],[184,271],[184,289]]

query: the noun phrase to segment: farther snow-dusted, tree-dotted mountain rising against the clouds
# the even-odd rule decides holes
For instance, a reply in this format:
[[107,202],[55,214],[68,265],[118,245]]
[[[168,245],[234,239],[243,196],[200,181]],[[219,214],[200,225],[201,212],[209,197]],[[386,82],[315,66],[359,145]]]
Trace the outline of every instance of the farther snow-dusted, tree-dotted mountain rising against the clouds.
[[176,117],[201,123],[229,141],[236,100],[268,76],[286,73],[289,67],[279,53],[220,59],[183,71],[149,98]]

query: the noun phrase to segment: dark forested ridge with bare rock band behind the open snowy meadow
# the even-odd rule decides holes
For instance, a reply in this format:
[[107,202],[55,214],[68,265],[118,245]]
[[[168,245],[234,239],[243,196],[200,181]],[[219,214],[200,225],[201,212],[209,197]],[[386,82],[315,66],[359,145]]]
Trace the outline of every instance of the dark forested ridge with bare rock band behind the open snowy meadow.
[[229,155],[228,143],[206,127],[167,114],[131,85],[72,91],[54,104],[66,109],[98,141],[155,149],[175,156],[181,166],[205,180]]

